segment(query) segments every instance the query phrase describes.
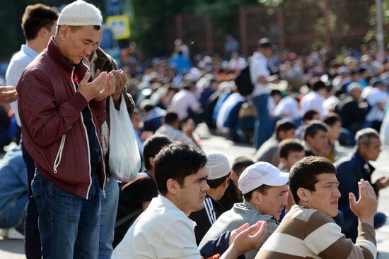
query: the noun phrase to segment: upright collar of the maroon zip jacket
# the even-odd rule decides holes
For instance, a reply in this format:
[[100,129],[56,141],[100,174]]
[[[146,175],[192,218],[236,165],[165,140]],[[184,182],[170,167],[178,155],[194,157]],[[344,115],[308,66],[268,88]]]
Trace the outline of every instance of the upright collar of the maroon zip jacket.
[[49,56],[52,56],[52,58],[57,62],[57,64],[64,68],[64,70],[69,72],[70,74],[73,71],[73,68],[76,67],[76,73],[78,74],[79,78],[83,78],[83,76],[85,76],[86,71],[88,71],[88,67],[83,64],[82,61],[77,66],[71,65],[69,61],[67,61],[64,54],[62,54],[57,44],[54,42],[54,36],[51,37],[49,44],[47,45],[47,49],[45,49],[45,52]]

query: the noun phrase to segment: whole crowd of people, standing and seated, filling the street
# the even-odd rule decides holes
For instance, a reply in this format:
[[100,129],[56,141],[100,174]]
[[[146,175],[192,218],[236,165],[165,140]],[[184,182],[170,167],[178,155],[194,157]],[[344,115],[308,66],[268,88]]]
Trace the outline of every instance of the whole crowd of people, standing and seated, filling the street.
[[[298,56],[262,38],[245,59],[228,35],[223,59],[176,40],[145,61],[131,44],[119,69],[102,21],[82,0],[25,8],[0,87],[0,145],[18,142],[0,165],[0,234],[22,236],[27,258],[376,258],[389,176],[373,182],[369,162],[389,139],[389,53]],[[123,109],[131,181],[110,164]],[[200,124],[255,155],[206,154]]]

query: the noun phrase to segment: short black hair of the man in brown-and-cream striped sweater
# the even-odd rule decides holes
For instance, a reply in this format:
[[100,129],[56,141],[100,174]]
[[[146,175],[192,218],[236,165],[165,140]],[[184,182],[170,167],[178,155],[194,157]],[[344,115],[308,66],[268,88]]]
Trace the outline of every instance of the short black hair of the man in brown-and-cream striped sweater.
[[297,195],[298,188],[315,191],[319,174],[336,174],[336,171],[334,164],[325,157],[304,157],[296,162],[289,173],[289,189],[294,202],[296,204],[300,202]]

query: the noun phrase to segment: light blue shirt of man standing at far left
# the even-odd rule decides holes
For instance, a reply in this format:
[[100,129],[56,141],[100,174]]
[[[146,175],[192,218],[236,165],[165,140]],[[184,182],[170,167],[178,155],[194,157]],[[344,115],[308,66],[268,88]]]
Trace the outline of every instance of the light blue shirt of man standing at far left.
[[[12,56],[11,61],[9,61],[9,65],[6,71],[6,85],[12,85],[16,88],[24,68],[35,59],[37,54],[39,53],[35,52],[34,49],[31,49],[27,45],[23,44],[21,50],[16,52],[16,54]],[[16,121],[20,127],[21,119],[19,119],[18,101],[12,102],[11,107],[13,112],[15,112]]]

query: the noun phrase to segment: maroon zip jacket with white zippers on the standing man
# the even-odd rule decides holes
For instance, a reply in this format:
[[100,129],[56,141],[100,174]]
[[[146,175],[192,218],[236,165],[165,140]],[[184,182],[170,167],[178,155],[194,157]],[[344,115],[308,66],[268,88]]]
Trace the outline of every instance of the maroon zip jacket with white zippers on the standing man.
[[[80,80],[88,68],[81,62],[76,72]],[[91,188],[91,163],[88,135],[82,110],[91,110],[99,144],[100,126],[106,119],[105,100],[86,99],[76,90],[74,66],[59,51],[54,37],[47,49],[25,68],[18,81],[18,109],[23,143],[33,157],[37,171],[64,191],[82,198]],[[104,189],[105,162],[98,169]]]

